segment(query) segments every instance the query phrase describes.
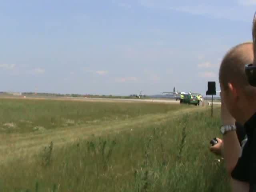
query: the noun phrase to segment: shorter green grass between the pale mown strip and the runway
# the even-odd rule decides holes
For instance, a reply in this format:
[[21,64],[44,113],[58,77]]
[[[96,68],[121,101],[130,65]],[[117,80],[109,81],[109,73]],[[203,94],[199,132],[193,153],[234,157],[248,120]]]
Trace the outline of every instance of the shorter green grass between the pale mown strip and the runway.
[[25,133],[166,113],[179,106],[146,103],[77,102],[0,98],[0,131]]

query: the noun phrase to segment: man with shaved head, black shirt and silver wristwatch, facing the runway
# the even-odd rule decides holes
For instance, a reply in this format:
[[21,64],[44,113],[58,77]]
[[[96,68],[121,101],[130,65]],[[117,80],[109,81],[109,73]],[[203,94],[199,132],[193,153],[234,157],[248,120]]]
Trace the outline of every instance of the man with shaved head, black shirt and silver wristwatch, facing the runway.
[[[223,153],[234,192],[256,192],[256,88],[244,72],[253,55],[252,42],[239,44],[224,56],[219,70]],[[242,148],[235,119],[244,125],[248,136]]]

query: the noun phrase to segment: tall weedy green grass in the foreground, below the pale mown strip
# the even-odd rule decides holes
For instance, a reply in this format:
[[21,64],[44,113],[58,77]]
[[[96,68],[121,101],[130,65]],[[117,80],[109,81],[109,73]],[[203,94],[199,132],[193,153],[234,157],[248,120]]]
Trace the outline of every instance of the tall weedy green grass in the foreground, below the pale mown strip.
[[0,191],[230,191],[223,162],[208,150],[210,139],[219,136],[219,112],[214,109],[214,118],[210,111],[193,112],[139,129],[133,125],[62,148],[52,143],[32,163],[2,165]]

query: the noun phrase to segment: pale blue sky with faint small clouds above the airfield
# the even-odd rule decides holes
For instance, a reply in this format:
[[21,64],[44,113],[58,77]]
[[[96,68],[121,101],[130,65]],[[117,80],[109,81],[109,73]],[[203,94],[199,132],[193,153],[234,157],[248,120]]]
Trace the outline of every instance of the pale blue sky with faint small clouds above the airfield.
[[0,0],[0,91],[205,94],[256,0]]

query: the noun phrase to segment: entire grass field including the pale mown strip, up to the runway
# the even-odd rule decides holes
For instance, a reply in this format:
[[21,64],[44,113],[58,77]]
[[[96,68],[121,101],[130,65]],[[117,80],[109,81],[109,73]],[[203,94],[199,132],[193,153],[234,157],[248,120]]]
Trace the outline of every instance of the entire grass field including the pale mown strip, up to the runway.
[[230,191],[220,108],[0,99],[1,192]]

